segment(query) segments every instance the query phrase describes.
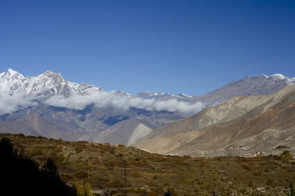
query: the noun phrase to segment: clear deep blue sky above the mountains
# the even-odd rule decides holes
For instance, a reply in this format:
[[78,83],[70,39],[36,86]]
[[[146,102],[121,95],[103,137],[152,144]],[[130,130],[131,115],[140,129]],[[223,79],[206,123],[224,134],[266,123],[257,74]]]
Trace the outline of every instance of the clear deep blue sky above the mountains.
[[295,77],[295,1],[1,0],[0,72],[8,68],[133,94]]

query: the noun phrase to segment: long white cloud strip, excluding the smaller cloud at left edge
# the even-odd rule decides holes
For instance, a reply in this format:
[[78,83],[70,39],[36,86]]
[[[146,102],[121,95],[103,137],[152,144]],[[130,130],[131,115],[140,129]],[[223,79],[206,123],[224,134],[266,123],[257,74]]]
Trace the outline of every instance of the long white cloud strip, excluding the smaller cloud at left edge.
[[87,95],[72,94],[69,97],[64,97],[63,95],[54,96],[44,100],[44,103],[76,110],[82,110],[89,104],[95,104],[95,106],[100,108],[112,107],[118,110],[128,110],[130,107],[135,107],[138,109],[166,110],[186,114],[195,114],[205,107],[202,102],[190,104],[178,101],[177,99],[162,101],[155,100],[154,98],[129,98],[127,96],[118,96],[96,90],[89,90]]

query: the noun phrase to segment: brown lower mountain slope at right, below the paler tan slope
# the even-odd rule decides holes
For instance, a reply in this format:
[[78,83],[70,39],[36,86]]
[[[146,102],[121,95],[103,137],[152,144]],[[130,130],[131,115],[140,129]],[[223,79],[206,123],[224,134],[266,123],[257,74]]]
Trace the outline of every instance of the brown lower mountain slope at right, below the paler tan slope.
[[[235,123],[217,125],[170,153],[224,156],[229,153],[224,150],[228,146],[245,147],[249,152],[276,151],[277,147],[295,150],[294,141],[295,102],[283,109],[268,109],[263,114],[252,118],[244,117]],[[243,154],[246,153],[243,152]]]

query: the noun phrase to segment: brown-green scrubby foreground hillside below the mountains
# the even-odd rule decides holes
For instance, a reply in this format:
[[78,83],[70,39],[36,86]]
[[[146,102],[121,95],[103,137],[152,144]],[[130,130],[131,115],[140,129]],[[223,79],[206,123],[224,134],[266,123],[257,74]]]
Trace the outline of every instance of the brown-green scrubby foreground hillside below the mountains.
[[[289,193],[295,173],[293,159],[267,158],[192,158],[148,153],[135,147],[66,142],[23,134],[1,134],[15,147],[24,147],[27,156],[40,163],[51,157],[60,177],[68,184],[83,183],[86,161],[88,181],[96,195],[110,189],[121,193],[120,156],[127,161],[129,196],[282,196]],[[63,167],[63,175],[62,175]],[[116,194],[117,192],[117,194]]]

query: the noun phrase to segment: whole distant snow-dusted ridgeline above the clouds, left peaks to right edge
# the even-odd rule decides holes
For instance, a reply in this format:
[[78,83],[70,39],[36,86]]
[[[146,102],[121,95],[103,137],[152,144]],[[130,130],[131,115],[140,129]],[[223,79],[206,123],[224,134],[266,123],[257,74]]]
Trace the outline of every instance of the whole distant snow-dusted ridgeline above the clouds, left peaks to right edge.
[[[173,95],[171,93],[143,91],[138,94],[129,94],[124,91],[110,91],[110,94],[128,96],[129,98],[154,98],[156,100],[177,99],[184,102],[222,102],[235,96],[267,95],[277,92],[287,85],[295,84],[295,77],[290,78],[282,74],[245,76],[238,81],[232,81],[220,89],[208,92],[202,96],[188,96],[185,94]],[[0,73],[0,90],[25,91],[26,95],[31,93],[45,95],[70,96],[73,92],[85,94],[88,89],[103,91],[102,87],[95,87],[91,84],[75,83],[65,80],[60,73],[50,70],[37,76],[24,77],[12,69]]]

